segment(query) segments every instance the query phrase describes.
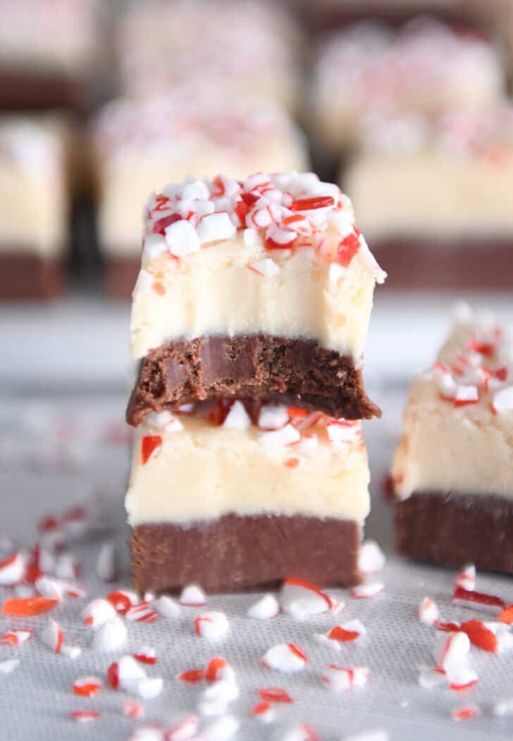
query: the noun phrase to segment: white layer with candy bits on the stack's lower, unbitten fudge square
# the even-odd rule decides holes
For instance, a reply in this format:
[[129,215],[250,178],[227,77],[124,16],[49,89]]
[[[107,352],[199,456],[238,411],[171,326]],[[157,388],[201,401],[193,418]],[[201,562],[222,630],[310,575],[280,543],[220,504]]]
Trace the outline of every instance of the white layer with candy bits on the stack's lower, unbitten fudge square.
[[126,506],[134,528],[186,526],[229,513],[361,525],[369,513],[360,422],[284,406],[255,411],[240,401],[205,402],[187,413],[150,413],[133,450]]

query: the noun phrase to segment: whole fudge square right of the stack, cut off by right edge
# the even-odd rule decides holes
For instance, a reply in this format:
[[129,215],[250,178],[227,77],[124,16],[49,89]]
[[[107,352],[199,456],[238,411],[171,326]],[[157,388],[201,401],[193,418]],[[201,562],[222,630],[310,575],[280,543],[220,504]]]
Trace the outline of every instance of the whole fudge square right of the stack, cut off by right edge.
[[513,574],[513,345],[466,310],[412,387],[392,467],[400,554]]

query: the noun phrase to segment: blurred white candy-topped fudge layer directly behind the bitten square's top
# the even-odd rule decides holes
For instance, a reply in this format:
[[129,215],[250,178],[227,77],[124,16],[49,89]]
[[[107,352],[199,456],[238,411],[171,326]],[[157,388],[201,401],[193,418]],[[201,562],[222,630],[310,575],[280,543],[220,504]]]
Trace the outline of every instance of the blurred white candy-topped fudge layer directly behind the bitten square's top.
[[196,96],[119,99],[95,119],[93,143],[99,237],[104,252],[115,257],[140,254],[141,203],[170,180],[308,167],[300,130],[266,102],[227,109],[212,100],[198,104]]

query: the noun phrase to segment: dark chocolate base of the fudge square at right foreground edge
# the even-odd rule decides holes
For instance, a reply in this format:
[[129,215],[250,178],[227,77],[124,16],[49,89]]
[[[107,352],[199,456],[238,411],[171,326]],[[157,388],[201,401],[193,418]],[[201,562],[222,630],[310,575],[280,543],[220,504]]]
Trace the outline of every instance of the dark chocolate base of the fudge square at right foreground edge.
[[513,502],[478,494],[412,494],[395,509],[399,554],[513,574]]

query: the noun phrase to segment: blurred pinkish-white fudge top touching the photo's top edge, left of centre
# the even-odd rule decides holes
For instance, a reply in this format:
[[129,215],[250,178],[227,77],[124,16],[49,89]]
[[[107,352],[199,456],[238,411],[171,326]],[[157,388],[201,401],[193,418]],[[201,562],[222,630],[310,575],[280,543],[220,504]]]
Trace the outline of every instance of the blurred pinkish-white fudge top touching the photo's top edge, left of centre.
[[221,102],[257,97],[295,107],[301,35],[275,2],[138,2],[119,19],[116,36],[130,96],[193,89],[201,99],[215,90]]

